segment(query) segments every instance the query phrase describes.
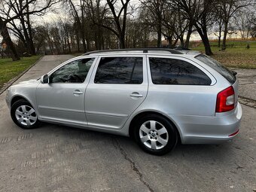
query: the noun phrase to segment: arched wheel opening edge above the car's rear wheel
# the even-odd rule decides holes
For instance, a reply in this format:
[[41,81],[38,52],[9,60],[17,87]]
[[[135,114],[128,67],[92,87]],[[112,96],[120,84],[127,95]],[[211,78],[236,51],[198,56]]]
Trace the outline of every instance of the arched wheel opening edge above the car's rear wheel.
[[164,117],[166,118],[166,120],[169,121],[169,123],[172,124],[172,126],[175,127],[175,129],[177,130],[177,133],[178,133],[178,141],[181,142],[181,130],[179,129],[179,127],[176,125],[175,121],[170,119],[169,117],[166,117],[166,115],[158,112],[158,111],[142,111],[140,112],[139,114],[136,114],[136,116],[133,117],[133,119],[130,121],[130,125],[129,125],[129,136],[131,138],[133,138],[133,129],[135,127],[135,124],[136,124],[136,120],[138,120],[140,117],[142,116],[145,116],[145,115],[148,115],[148,114],[157,114],[161,117]]

